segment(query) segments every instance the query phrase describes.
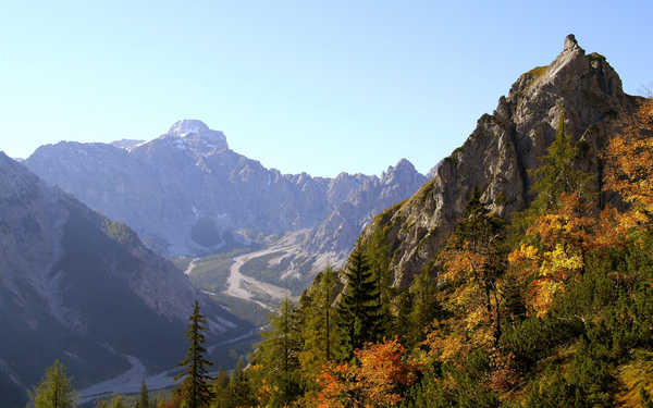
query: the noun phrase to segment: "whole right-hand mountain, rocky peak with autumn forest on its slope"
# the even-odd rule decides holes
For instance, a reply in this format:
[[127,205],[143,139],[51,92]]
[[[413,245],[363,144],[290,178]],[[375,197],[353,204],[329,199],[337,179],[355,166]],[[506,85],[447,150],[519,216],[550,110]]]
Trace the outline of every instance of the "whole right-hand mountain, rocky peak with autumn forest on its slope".
[[280,307],[238,373],[252,392],[225,383],[215,399],[650,407],[652,148],[653,99],[568,36],[431,182],[373,218],[347,270]]

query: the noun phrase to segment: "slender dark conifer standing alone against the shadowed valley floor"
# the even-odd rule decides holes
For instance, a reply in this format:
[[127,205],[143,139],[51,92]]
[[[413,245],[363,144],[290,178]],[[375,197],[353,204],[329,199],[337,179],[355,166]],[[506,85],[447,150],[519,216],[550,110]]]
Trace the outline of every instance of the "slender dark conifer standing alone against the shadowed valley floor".
[[180,362],[178,367],[185,367],[184,371],[175,376],[175,380],[184,378],[182,383],[182,390],[184,393],[184,401],[188,408],[200,408],[208,406],[213,397],[213,392],[209,385],[211,376],[208,374],[207,367],[213,363],[204,357],[207,351],[202,347],[206,337],[204,331],[206,330],[206,319],[199,312],[199,304],[195,300],[193,307],[193,314],[188,318],[190,322],[188,325],[188,332],[186,338],[190,342],[188,351],[184,361]]

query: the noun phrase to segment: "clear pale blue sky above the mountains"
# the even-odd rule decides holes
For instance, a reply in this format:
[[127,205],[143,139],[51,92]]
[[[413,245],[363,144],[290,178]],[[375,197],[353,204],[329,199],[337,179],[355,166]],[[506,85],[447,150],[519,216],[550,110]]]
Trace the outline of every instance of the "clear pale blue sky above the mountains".
[[426,172],[569,33],[626,91],[653,82],[651,1],[7,3],[0,150],[22,158],[200,119],[284,173]]

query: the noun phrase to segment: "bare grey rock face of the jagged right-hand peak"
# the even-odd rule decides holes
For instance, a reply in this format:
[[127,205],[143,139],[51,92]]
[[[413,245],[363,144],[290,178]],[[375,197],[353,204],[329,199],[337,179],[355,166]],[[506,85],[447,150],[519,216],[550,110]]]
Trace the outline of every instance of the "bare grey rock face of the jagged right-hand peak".
[[526,207],[532,199],[528,171],[554,140],[562,113],[568,133],[583,141],[583,166],[601,180],[601,149],[637,103],[606,59],[586,54],[569,35],[550,65],[521,75],[436,175],[406,202],[378,215],[364,237],[386,228],[395,283],[406,285],[436,254],[475,187],[502,217]]

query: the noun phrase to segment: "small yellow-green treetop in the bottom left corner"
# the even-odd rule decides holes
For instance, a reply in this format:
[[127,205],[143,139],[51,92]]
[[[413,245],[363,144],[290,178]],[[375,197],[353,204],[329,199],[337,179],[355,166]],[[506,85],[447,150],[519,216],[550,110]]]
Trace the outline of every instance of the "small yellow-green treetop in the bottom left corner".
[[65,367],[59,360],[46,370],[44,380],[29,393],[29,400],[34,408],[75,407],[76,393],[65,373]]

